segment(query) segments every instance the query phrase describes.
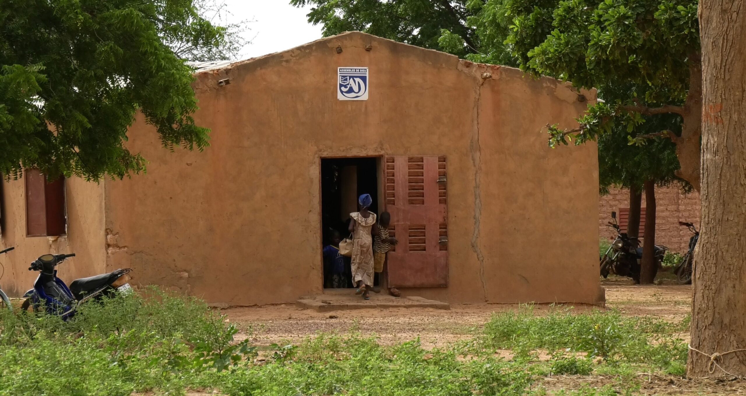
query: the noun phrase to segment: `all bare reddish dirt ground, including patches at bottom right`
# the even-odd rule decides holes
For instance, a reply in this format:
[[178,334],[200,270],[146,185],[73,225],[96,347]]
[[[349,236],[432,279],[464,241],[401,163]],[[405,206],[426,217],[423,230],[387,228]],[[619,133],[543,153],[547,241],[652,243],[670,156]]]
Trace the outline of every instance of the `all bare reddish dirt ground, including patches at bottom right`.
[[[617,309],[630,316],[656,316],[678,322],[690,313],[692,288],[665,279],[660,285],[633,285],[626,278],[602,281],[606,287],[606,308]],[[350,293],[351,301],[358,296]],[[376,298],[372,295],[372,298]],[[433,348],[468,339],[489,320],[492,313],[514,310],[517,304],[458,304],[451,310],[387,308],[341,310],[317,313],[301,310],[293,304],[264,307],[237,307],[224,310],[228,319],[241,325],[242,338],[251,337],[254,345],[298,343],[319,332],[349,333],[360,331],[375,335],[385,345],[420,337],[424,348]],[[540,314],[549,305],[536,307]],[[576,310],[597,307],[575,306]],[[688,334],[682,334],[688,338]],[[681,377],[639,374],[642,380],[640,395],[746,395],[743,380],[687,380]],[[612,377],[559,376],[547,377],[539,385],[550,393],[559,389],[580,389],[583,386],[614,385]]]

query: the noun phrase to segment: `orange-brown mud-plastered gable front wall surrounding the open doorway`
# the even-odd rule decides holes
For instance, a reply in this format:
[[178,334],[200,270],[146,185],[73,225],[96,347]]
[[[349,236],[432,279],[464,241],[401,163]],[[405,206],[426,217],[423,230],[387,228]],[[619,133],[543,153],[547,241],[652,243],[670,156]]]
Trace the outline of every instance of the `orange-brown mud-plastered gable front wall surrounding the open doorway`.
[[[336,99],[338,66],[370,67],[369,100]],[[541,132],[586,108],[569,86],[345,33],[198,74],[195,91],[211,146],[169,153],[139,118],[128,147],[148,173],[106,182],[107,266],[134,283],[225,304],[321,293],[320,159],[445,155],[450,284],[405,295],[598,302],[596,147],[550,150]]]

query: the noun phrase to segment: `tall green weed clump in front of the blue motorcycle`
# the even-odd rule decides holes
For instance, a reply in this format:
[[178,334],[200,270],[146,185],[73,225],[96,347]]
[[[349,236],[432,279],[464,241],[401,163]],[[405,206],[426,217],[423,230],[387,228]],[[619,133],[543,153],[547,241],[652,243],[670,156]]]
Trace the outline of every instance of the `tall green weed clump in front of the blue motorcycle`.
[[236,332],[203,301],[155,288],[84,304],[69,322],[0,311],[0,395],[183,393],[187,377],[251,353]]

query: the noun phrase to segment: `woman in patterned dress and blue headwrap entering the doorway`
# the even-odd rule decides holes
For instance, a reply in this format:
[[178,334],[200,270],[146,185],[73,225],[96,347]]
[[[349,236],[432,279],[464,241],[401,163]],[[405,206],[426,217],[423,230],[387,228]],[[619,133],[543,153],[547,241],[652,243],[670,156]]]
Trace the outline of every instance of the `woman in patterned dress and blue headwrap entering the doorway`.
[[373,203],[370,194],[357,199],[360,211],[350,214],[349,231],[352,235],[352,283],[357,287],[355,294],[370,299],[369,290],[373,287],[373,237],[378,229],[374,227],[375,214],[368,211]]

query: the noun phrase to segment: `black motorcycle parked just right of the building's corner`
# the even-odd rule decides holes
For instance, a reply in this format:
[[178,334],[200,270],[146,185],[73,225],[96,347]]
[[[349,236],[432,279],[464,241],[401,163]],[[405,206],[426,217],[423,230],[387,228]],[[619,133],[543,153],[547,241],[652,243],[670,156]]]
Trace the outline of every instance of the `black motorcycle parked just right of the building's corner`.
[[[640,283],[640,269],[642,268],[642,246],[639,246],[640,240],[637,237],[630,237],[626,232],[620,231],[615,211],[611,212],[611,218],[614,222],[609,222],[606,226],[614,229],[617,236],[611,246],[609,246],[609,249],[606,250],[606,253],[601,256],[601,260],[599,261],[601,276],[606,278],[609,276],[609,273],[612,273],[633,278],[635,283]],[[668,248],[656,245],[654,246],[654,250],[656,265],[660,265]]]

